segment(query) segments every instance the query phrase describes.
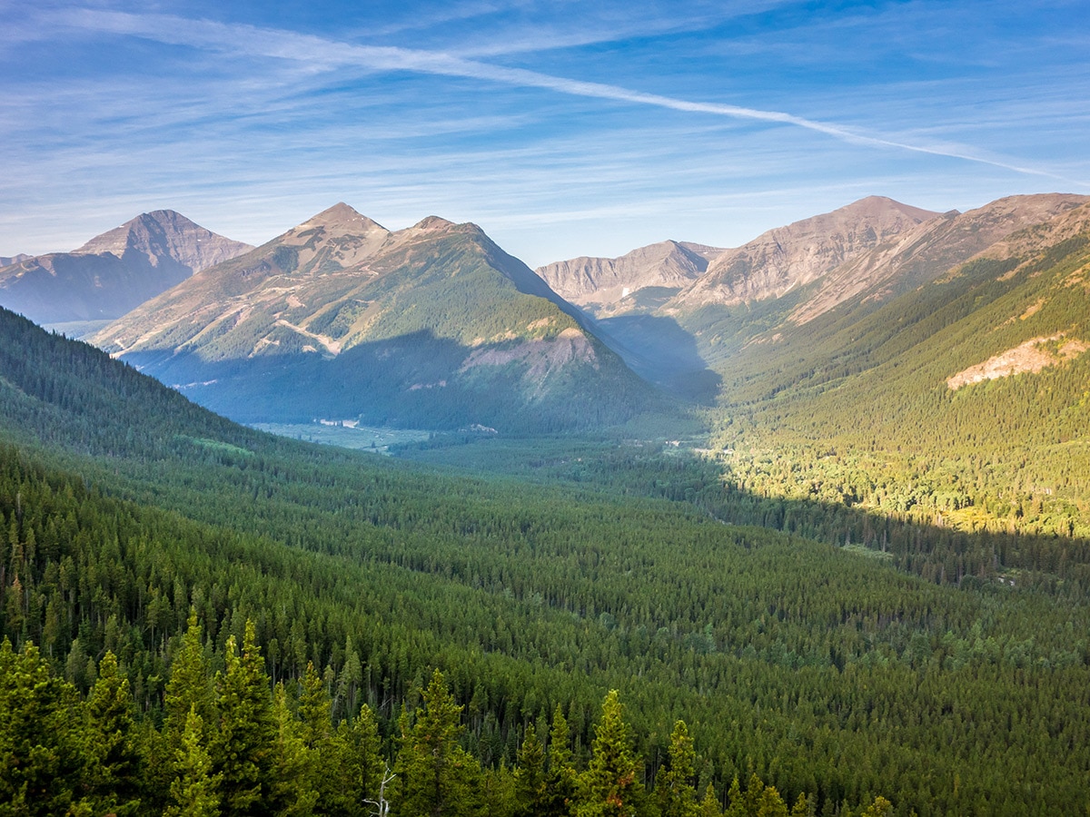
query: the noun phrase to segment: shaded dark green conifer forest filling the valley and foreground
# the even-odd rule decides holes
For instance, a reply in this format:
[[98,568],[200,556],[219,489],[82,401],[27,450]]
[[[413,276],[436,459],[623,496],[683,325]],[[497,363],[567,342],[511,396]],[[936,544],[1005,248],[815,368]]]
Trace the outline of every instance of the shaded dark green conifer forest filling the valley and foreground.
[[[388,763],[391,814],[421,814],[432,806],[414,800],[411,769],[438,702],[441,752],[464,772],[444,814],[525,813],[520,786],[543,752],[541,768],[576,789],[559,810],[530,813],[691,814],[710,784],[705,814],[724,801],[756,814],[765,785],[767,808],[783,809],[768,814],[801,795],[841,815],[880,813],[879,795],[905,815],[1087,805],[1080,575],[938,585],[851,549],[724,525],[687,491],[647,496],[655,486],[634,474],[528,488],[277,440],[0,317],[0,624],[12,642],[0,678],[5,702],[31,707],[5,706],[0,723],[12,802],[120,814],[138,798],[131,813],[158,814],[206,795],[213,814],[215,802],[356,814]],[[626,456],[679,488],[700,473]],[[915,528],[929,547],[941,534]],[[208,669],[185,683],[199,721],[173,692],[197,653]],[[27,697],[27,679],[44,697]],[[569,740],[543,740],[558,708]],[[94,730],[125,735],[109,744],[117,770],[94,755]],[[631,752],[602,744],[618,730]],[[225,748],[242,733],[255,767]],[[35,742],[46,765],[16,763]],[[352,804],[323,796],[315,768],[354,769]],[[131,786],[149,773],[157,793]],[[620,797],[633,810],[608,810],[609,775],[637,788]],[[669,805],[670,791],[689,805]]]

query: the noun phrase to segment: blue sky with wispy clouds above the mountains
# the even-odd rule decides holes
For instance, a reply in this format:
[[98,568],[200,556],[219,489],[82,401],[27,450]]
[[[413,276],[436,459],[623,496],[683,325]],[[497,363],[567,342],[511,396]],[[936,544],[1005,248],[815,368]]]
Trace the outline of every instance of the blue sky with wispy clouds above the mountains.
[[1016,2],[0,0],[0,255],[343,200],[531,266],[886,195],[1090,194],[1090,11]]

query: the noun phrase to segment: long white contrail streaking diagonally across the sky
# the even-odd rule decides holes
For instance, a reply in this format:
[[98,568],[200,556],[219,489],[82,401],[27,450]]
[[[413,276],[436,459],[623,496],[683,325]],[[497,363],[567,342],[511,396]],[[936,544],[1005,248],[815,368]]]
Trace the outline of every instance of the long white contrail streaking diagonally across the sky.
[[706,113],[731,119],[795,125],[855,145],[871,145],[944,156],[1070,183],[1070,180],[1055,173],[977,156],[967,148],[899,142],[827,122],[796,117],[783,111],[767,111],[717,102],[694,102],[658,94],[645,94],[617,85],[570,80],[528,69],[493,65],[441,52],[387,46],[358,46],[294,32],[258,28],[244,24],[216,23],[208,20],[191,20],[171,14],[130,14],[85,9],[47,13],[45,16],[61,25],[82,29],[124,34],[169,45],[184,45],[233,54],[293,60],[311,64],[315,69],[351,65],[382,72],[404,71],[438,76],[458,76],[518,87],[545,88],[572,96],[646,105],[687,113]]

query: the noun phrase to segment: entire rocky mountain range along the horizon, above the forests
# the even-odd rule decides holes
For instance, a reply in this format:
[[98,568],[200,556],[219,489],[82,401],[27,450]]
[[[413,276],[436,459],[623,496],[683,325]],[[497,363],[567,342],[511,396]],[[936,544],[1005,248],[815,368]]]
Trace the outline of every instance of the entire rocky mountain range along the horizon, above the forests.
[[651,385],[728,413],[772,382],[794,393],[865,359],[872,316],[915,314],[959,265],[1073,239],[1088,200],[938,214],[871,196],[736,248],[663,241],[536,275],[475,224],[434,216],[390,231],[338,204],[254,248],[157,211],[4,268],[0,294],[55,319],[138,301],[93,342],[235,419],[589,429],[676,414]]

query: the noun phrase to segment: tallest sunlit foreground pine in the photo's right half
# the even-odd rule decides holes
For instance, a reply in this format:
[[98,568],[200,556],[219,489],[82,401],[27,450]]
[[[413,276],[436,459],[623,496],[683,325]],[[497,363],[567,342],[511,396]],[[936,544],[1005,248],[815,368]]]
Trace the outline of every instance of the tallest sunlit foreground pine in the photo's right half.
[[639,780],[639,761],[632,754],[628,725],[616,690],[602,704],[595,728],[591,761],[579,776],[578,817],[630,817],[640,814],[646,793]]

